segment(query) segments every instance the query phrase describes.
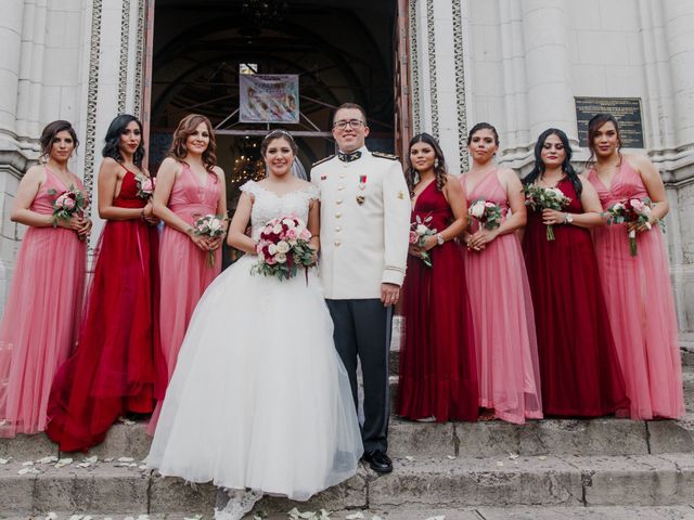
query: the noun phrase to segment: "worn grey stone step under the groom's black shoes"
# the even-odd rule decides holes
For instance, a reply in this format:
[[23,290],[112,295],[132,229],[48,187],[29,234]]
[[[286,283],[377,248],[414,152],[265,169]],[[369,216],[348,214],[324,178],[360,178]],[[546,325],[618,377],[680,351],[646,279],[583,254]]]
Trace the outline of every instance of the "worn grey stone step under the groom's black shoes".
[[[49,511],[197,514],[211,510],[211,484],[187,485],[136,468],[100,463],[18,474],[0,466],[0,510],[5,516]],[[684,506],[694,504],[694,454],[395,459],[395,471],[360,468],[349,481],[305,504],[265,497],[257,511],[374,508],[457,509],[472,506]]]

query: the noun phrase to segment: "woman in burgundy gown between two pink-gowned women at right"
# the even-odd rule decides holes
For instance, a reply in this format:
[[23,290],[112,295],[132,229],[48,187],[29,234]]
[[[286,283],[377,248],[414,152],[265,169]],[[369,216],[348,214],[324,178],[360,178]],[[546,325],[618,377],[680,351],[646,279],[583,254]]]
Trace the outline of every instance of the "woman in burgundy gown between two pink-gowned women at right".
[[[542,132],[524,183],[558,187],[563,211],[529,211],[523,250],[535,307],[545,415],[597,417],[629,406],[590,227],[602,225],[595,190],[574,171],[562,130]],[[547,238],[547,225],[555,240]]]

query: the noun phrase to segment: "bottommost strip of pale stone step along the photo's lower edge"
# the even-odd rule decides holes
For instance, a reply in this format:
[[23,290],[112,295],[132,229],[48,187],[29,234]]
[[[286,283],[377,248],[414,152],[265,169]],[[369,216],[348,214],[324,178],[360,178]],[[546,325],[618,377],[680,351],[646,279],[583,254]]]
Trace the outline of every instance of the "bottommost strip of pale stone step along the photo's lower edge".
[[[310,509],[299,508],[303,514]],[[54,511],[53,511],[54,512]],[[432,517],[444,517],[445,520],[562,520],[562,519],[588,519],[591,520],[691,520],[694,518],[694,506],[601,506],[601,507],[544,507],[544,506],[517,506],[517,507],[475,507],[460,509],[432,509],[417,508],[416,506],[397,509],[359,509],[346,511],[329,511],[331,520],[357,520],[355,516],[363,520],[427,520]],[[361,517],[359,517],[361,514]],[[73,512],[55,512],[53,520],[77,520]],[[78,515],[88,515],[78,512]],[[210,511],[195,515],[183,512],[156,514],[117,514],[117,515],[89,515],[91,520],[211,520]],[[253,516],[247,516],[252,519]],[[286,512],[269,514],[264,520],[287,520]],[[320,518],[319,516],[314,518]],[[33,516],[3,517],[1,520],[37,520]],[[85,520],[83,517],[80,520]],[[311,520],[309,518],[309,520]]]

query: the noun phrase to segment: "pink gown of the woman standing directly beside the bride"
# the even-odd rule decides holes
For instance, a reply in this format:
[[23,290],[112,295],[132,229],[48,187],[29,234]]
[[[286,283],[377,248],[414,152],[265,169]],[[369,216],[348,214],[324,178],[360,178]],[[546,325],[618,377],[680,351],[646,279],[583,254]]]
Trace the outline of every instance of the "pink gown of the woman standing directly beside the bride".
[[[168,206],[192,225],[200,217],[217,214],[221,183],[214,172],[209,172],[205,183],[201,183],[190,167],[185,162],[182,165],[183,169],[171,188]],[[208,252],[193,244],[188,235],[174,227],[164,229],[159,249],[159,323],[162,353],[166,361],[167,374],[158,378],[164,385],[160,385],[156,392],[159,403],[150,421],[150,434],[153,434],[156,428],[166,386],[174,375],[178,352],[197,300],[220,272],[221,248],[215,251],[215,262],[210,266]]]

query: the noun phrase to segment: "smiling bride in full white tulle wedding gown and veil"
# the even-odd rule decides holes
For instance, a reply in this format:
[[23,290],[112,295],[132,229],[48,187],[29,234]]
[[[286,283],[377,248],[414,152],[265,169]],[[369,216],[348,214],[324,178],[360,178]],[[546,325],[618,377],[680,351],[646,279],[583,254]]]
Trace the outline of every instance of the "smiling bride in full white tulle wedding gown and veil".
[[307,222],[318,250],[319,194],[292,176],[296,150],[281,130],[262,141],[268,177],[241,186],[229,230],[246,255],[197,303],[147,457],[163,476],[229,489],[219,518],[241,518],[264,493],[306,500],[355,474],[362,454],[316,270],[252,274],[256,240],[275,217]]

